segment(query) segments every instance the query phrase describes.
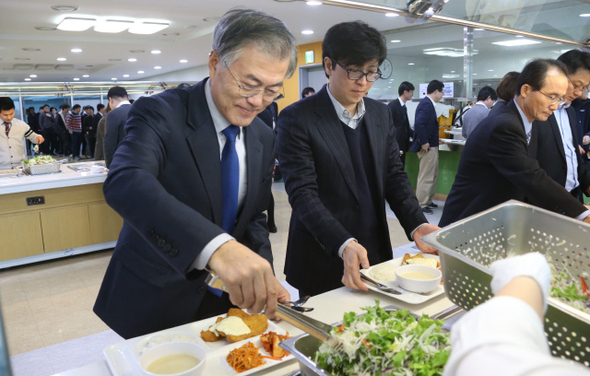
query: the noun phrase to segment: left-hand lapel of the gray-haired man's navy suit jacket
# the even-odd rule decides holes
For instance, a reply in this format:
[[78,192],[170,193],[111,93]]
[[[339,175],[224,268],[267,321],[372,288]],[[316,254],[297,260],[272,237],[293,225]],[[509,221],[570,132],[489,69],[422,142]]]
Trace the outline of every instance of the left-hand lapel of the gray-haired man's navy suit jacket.
[[187,122],[194,129],[187,142],[195,159],[197,169],[213,211],[213,222],[221,226],[223,203],[221,197],[221,162],[219,141],[211,113],[205,99],[204,85],[207,80],[195,85],[189,92]]

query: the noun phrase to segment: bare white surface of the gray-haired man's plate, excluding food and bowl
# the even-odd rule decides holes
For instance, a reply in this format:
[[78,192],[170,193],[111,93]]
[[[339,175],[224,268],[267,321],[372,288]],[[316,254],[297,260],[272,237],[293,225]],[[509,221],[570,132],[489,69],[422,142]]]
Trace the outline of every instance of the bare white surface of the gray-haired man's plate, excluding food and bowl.
[[[222,315],[225,317],[225,315]],[[256,347],[260,347],[260,354],[270,356],[264,350],[260,336],[247,338],[243,341],[230,343],[226,339],[217,342],[205,342],[201,339],[201,330],[207,330],[217,320],[216,317],[211,317],[205,320],[196,321],[191,324],[185,324],[162,330],[160,332],[146,334],[145,336],[128,339],[124,342],[110,345],[104,348],[103,353],[107,359],[107,364],[114,376],[141,376],[141,369],[139,367],[139,358],[142,351],[145,349],[148,341],[155,337],[161,336],[161,339],[170,338],[170,340],[178,339],[179,336],[190,338],[195,343],[198,343],[205,349],[207,353],[207,362],[205,363],[205,371],[203,375],[238,375],[238,373],[227,363],[227,355],[229,352],[245,343],[252,342]],[[273,331],[278,334],[285,334],[285,331],[279,328],[272,321],[268,321],[268,328],[264,333]],[[286,360],[293,359],[293,355],[283,357],[283,360],[265,359],[266,364],[253,368],[249,371],[241,372],[239,375],[249,375],[253,372],[258,372],[263,369],[274,367]]]

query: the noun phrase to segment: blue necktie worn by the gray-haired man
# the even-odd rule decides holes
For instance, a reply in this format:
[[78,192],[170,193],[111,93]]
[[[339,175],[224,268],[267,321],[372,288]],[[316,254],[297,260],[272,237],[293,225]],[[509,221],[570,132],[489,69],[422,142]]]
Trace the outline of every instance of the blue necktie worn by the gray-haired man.
[[236,136],[240,128],[230,125],[223,131],[226,141],[221,153],[221,183],[223,217],[221,227],[231,234],[234,230],[238,213],[238,190],[240,183],[240,162],[236,152]]

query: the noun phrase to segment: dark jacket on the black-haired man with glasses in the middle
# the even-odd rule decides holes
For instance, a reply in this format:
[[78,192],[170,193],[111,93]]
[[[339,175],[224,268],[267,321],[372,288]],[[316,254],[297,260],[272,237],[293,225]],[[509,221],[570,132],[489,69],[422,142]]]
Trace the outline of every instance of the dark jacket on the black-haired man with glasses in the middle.
[[[364,124],[375,167],[375,204],[382,244],[391,242],[385,201],[408,237],[426,218],[399,158],[391,113],[365,98]],[[292,207],[285,274],[287,281],[311,294],[342,286],[344,266],[338,249],[355,237],[359,199],[348,144],[324,86],[317,94],[283,109],[277,125],[277,153]]]

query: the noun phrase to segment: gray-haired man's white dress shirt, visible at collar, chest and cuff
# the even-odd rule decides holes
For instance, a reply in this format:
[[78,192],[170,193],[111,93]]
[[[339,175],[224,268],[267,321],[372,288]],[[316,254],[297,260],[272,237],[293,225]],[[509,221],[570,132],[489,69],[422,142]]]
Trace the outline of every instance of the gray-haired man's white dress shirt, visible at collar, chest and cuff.
[[[215,131],[217,132],[217,141],[219,142],[219,159],[221,160],[221,155],[223,153],[223,147],[225,146],[225,135],[223,134],[223,130],[230,126],[230,122],[221,115],[217,107],[215,107],[215,102],[213,102],[213,97],[211,96],[211,81],[207,81],[205,84],[205,98],[207,100],[207,106],[209,107],[209,112],[211,114],[211,119],[213,120],[213,125],[215,126]],[[246,191],[248,189],[248,179],[247,179],[247,164],[246,164],[246,140],[244,137],[243,129],[240,128],[240,132],[236,136],[236,152],[238,154],[238,160],[240,162],[240,180],[239,180],[239,188],[238,188],[238,213],[244,204],[244,199],[246,197]],[[213,252],[217,250],[222,244],[230,241],[235,240],[235,238],[229,234],[221,234],[217,237],[213,238],[206,246],[203,248],[201,253],[197,256],[195,262],[193,263],[193,267],[195,269],[205,269],[209,259]]]

